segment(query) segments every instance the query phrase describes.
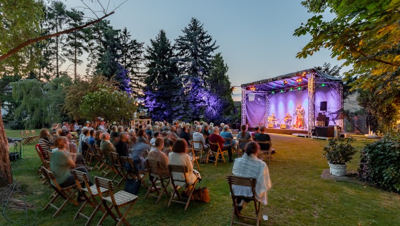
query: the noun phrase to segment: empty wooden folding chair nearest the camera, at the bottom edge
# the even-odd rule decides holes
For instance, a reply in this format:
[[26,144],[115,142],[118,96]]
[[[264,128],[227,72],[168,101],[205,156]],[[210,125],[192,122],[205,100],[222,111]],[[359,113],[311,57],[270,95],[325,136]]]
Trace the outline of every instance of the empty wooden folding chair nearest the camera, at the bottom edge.
[[[125,225],[130,225],[129,222],[125,219],[125,217],[128,215],[129,211],[136,203],[137,196],[124,191],[119,191],[114,194],[114,184],[112,183],[112,180],[107,180],[101,177],[95,177],[94,182],[97,187],[98,196],[101,197],[103,206],[106,209],[106,213],[103,215],[102,219],[98,222],[97,225],[102,225],[108,215],[110,215],[117,222],[116,224],[117,226],[121,225],[122,223],[124,223]],[[109,194],[108,197],[103,196],[101,192],[102,188],[108,189],[108,194]],[[107,203],[111,203],[111,205],[108,206]],[[121,207],[126,205],[128,206],[128,208],[123,214],[121,212]],[[99,208],[100,207],[98,205],[95,211],[97,211],[97,209]],[[115,209],[115,212],[118,216],[116,216],[112,212],[112,209]]]

